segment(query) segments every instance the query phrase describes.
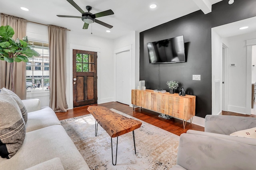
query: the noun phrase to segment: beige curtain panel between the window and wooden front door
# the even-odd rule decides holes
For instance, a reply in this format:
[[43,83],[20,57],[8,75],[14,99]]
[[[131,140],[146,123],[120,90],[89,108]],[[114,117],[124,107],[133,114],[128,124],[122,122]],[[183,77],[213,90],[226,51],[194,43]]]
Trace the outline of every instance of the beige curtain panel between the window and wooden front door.
[[68,109],[66,101],[66,29],[48,25],[50,51],[50,107],[54,111]]

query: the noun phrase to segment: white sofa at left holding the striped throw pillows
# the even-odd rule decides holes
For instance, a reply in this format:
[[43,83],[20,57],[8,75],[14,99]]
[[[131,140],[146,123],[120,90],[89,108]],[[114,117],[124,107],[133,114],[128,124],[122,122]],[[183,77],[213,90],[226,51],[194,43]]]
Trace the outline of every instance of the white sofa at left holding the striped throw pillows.
[[26,137],[10,158],[0,158],[1,170],[90,170],[50,107],[40,100],[22,100],[28,111]]

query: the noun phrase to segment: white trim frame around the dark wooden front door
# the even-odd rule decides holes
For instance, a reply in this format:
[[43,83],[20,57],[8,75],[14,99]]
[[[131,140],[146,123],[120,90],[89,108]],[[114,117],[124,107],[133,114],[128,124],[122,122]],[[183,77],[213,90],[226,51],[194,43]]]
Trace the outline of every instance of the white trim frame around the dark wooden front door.
[[77,44],[68,44],[67,49],[69,49],[68,54],[66,55],[66,65],[67,65],[67,82],[66,82],[66,96],[67,96],[67,104],[68,109],[72,109],[74,107],[73,105],[73,49],[79,49],[83,51],[93,51],[97,53],[97,95],[98,100],[100,99],[100,52],[101,49],[98,47],[88,47],[83,45],[77,45]]

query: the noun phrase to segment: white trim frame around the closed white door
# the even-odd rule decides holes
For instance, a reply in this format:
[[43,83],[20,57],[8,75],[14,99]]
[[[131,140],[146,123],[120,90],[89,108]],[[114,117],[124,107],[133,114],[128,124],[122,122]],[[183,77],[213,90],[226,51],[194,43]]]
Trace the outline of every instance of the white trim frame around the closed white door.
[[[125,47],[121,47],[119,49],[114,50],[114,101],[116,102],[116,55],[118,53],[122,53],[125,51],[130,51],[130,58],[131,58],[131,66],[132,66],[132,45],[127,45]],[[132,67],[131,67],[131,77],[130,77],[130,91],[132,92]],[[132,103],[130,104],[132,107]]]

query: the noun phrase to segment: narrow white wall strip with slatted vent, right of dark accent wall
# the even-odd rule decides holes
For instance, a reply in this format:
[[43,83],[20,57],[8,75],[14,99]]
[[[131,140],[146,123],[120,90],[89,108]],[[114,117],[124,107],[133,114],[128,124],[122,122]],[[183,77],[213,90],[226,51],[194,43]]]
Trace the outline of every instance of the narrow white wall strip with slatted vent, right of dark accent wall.
[[[212,28],[212,114],[218,115],[215,111],[215,86],[214,81],[222,82],[222,39]],[[222,96],[222,84],[220,84],[220,96]],[[222,108],[222,97],[220,98]]]

